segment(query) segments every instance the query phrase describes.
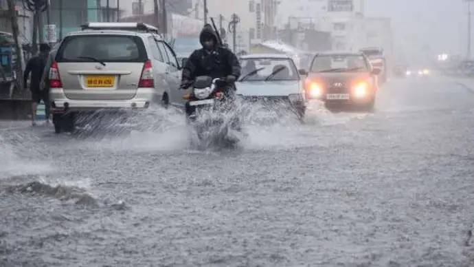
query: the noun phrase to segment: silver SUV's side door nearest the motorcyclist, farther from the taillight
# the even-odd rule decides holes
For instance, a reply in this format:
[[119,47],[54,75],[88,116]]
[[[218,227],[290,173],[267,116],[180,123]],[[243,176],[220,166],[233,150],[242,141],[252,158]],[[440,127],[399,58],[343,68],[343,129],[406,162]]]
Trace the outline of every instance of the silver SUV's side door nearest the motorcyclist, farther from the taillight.
[[159,41],[158,45],[160,49],[162,48],[166,57],[168,58],[168,77],[170,78],[170,103],[172,105],[184,106],[185,100],[183,100],[183,95],[186,94],[185,90],[179,89],[181,83],[181,67],[179,66],[178,59],[174,51],[164,41]]

